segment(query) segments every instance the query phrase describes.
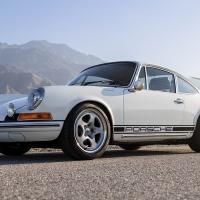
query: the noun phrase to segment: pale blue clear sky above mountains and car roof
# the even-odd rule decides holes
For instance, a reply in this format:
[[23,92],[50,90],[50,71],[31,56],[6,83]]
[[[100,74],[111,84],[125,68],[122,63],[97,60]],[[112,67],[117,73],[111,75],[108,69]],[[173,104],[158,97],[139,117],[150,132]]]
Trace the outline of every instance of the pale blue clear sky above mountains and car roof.
[[1,0],[0,41],[30,40],[200,77],[200,1]]

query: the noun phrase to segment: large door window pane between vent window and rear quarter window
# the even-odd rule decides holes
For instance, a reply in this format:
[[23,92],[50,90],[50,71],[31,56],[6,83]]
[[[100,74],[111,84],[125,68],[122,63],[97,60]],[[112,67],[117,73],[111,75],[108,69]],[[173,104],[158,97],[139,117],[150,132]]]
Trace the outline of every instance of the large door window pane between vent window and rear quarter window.
[[174,75],[152,67],[147,67],[149,90],[176,92]]

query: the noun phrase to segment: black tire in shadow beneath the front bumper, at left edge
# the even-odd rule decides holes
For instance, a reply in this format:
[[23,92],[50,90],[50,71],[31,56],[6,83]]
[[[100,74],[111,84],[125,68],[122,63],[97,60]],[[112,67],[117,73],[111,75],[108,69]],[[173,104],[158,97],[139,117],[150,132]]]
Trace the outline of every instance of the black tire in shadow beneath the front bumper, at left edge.
[[6,156],[21,156],[30,149],[31,147],[25,143],[0,144],[0,153]]

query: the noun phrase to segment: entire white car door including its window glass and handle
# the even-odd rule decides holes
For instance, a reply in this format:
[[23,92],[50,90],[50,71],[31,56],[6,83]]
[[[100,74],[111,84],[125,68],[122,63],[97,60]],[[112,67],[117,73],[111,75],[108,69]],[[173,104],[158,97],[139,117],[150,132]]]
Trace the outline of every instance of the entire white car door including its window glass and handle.
[[176,93],[174,74],[157,67],[144,66],[138,79],[144,82],[144,90],[124,90],[124,125],[180,125],[184,101],[181,101],[181,95]]

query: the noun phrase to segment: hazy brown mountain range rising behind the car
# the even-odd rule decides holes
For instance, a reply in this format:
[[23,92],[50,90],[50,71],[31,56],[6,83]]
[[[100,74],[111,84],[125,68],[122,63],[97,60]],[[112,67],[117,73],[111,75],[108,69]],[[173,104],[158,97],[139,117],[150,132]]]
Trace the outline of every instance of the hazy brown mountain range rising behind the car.
[[45,84],[66,84],[73,76],[103,60],[65,44],[31,41],[22,45],[0,43],[0,93],[26,93]]

